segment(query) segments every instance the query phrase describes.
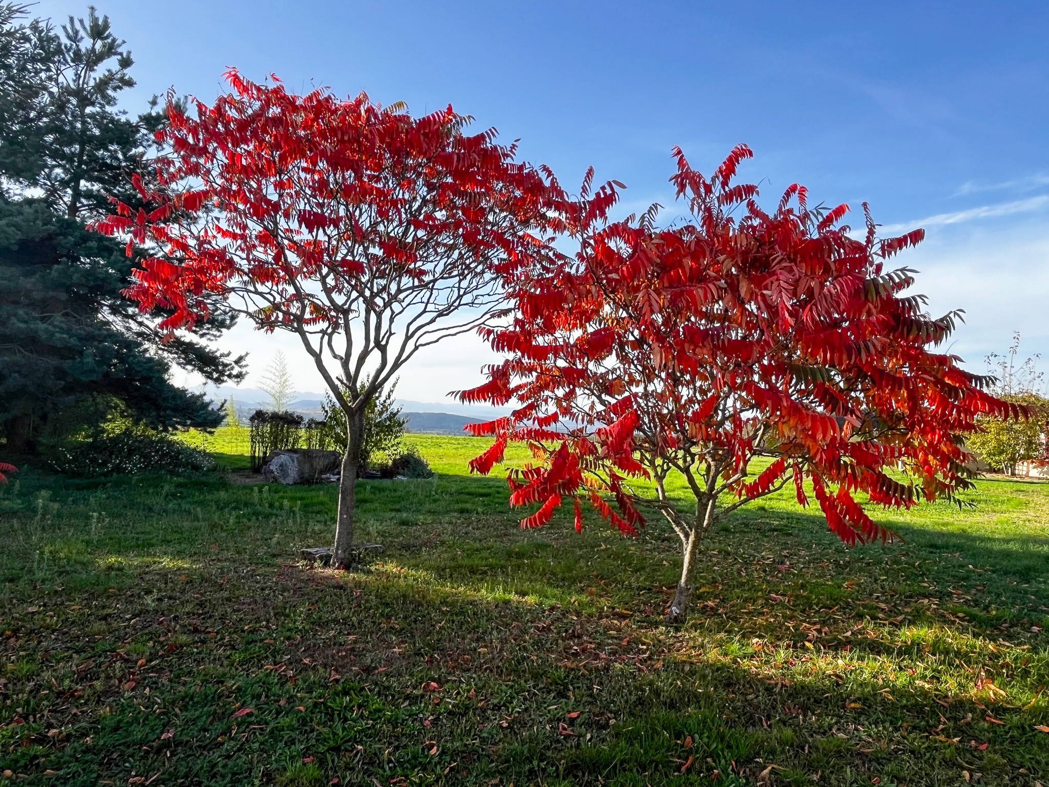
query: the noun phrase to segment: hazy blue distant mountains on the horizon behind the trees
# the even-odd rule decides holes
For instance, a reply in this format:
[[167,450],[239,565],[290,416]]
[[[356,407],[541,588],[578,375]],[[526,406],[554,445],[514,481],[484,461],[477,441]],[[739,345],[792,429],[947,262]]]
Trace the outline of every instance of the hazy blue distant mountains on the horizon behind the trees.
[[[237,416],[241,421],[251,418],[255,410],[265,408],[270,396],[260,388],[236,388],[232,385],[209,385],[205,393],[214,402],[226,402],[233,397]],[[323,393],[313,391],[295,391],[293,395],[292,412],[303,418],[322,418],[321,404]],[[478,407],[476,405],[459,404],[457,402],[416,402],[410,399],[397,399],[394,403],[401,408],[401,414],[407,419],[405,428],[410,432],[425,434],[464,434],[467,424],[478,424],[500,416],[510,413],[507,407]]]

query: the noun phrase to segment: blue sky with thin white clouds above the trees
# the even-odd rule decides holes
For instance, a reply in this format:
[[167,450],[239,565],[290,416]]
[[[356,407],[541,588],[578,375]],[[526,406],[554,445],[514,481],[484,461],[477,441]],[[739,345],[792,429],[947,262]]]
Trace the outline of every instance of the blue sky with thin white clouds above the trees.
[[[930,311],[966,311],[954,352],[971,367],[1013,331],[1049,359],[1049,3],[97,3],[136,61],[129,108],[169,86],[210,101],[227,66],[416,113],[451,103],[563,183],[590,165],[624,182],[630,209],[672,208],[673,145],[706,171],[745,142],[767,199],[800,182],[869,201],[886,229],[924,226],[900,260]],[[227,342],[255,373],[277,346],[247,328]],[[436,355],[402,397],[440,401],[487,360],[475,340]]]

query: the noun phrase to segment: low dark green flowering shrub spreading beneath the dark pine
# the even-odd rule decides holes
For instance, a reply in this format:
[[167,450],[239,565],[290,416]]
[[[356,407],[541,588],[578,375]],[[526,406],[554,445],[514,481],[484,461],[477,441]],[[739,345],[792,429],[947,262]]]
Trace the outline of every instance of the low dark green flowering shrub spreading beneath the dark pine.
[[173,475],[212,470],[204,451],[141,428],[101,434],[58,449],[52,467],[65,475],[117,475],[163,471]]

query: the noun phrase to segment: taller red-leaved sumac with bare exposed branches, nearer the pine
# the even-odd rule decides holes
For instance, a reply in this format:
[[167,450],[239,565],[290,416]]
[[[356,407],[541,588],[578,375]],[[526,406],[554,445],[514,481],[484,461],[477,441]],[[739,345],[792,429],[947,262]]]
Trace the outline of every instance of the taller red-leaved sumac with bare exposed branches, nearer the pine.
[[[326,90],[298,95],[236,71],[195,116],[174,104],[159,133],[164,194],[117,206],[106,234],[153,243],[128,293],[160,326],[192,328],[208,296],[262,331],[299,337],[346,417],[336,566],[351,559],[364,414],[416,353],[489,323],[505,282],[542,253],[549,185],[494,130],[467,135],[450,107]],[[166,196],[169,193],[171,196]]]

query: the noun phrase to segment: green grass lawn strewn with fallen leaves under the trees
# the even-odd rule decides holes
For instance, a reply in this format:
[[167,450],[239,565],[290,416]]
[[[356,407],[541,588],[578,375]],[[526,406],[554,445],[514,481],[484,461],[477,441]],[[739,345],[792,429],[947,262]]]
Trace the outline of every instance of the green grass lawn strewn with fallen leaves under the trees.
[[[242,467],[235,441],[212,448]],[[223,473],[0,490],[0,771],[41,785],[1049,783],[1049,485],[881,519],[847,549],[788,497],[714,533],[697,609],[655,524],[517,527],[486,444],[335,489]],[[518,450],[512,455],[523,460]],[[338,780],[338,781],[335,781]],[[0,783],[5,783],[0,777]]]

